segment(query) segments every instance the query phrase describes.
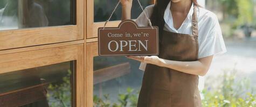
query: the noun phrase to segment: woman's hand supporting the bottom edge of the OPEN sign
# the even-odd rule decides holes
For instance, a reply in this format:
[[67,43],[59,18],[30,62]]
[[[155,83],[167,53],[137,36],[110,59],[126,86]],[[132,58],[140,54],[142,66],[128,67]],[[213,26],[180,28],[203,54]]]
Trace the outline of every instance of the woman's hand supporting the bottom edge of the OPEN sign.
[[127,58],[138,60],[142,63],[153,64],[157,66],[162,66],[164,60],[159,58],[158,56],[127,56]]

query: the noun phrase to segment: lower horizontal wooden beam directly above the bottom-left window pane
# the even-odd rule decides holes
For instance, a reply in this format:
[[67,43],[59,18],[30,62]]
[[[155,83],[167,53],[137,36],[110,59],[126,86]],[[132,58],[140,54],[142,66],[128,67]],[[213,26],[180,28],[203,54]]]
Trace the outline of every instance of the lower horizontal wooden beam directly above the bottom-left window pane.
[[0,74],[78,59],[78,46],[50,48],[0,55]]

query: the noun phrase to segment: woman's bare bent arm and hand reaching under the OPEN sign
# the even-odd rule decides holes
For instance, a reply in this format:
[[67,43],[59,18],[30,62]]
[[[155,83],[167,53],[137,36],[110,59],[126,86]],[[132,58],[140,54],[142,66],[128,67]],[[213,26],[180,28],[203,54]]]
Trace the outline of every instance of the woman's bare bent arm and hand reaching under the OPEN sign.
[[174,60],[162,59],[157,56],[128,56],[128,58],[139,60],[143,63],[154,64],[157,66],[168,67],[180,72],[204,76],[212,62],[213,56],[200,58],[193,62],[180,62]]

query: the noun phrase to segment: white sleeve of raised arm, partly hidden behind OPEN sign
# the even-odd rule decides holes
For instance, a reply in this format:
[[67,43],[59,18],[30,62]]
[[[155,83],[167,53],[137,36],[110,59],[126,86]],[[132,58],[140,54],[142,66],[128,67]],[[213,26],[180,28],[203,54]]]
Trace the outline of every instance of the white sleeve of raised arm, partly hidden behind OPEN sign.
[[[154,7],[154,5],[149,5],[144,9],[148,18],[150,18],[150,14],[153,11],[153,7]],[[145,14],[143,12],[141,12],[140,16],[135,20],[135,22],[140,27],[148,26],[148,24],[149,24],[149,22],[148,22]],[[146,63],[141,63],[139,69],[142,70],[142,71],[145,71],[146,65],[147,65]]]

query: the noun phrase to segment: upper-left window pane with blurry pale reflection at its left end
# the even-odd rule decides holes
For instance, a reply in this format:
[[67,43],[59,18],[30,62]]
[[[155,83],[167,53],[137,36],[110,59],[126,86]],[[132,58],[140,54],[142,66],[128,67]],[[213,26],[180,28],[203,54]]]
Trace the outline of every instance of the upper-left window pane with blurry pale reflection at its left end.
[[74,25],[74,0],[0,0],[0,30]]

